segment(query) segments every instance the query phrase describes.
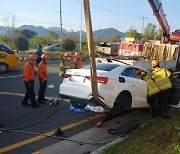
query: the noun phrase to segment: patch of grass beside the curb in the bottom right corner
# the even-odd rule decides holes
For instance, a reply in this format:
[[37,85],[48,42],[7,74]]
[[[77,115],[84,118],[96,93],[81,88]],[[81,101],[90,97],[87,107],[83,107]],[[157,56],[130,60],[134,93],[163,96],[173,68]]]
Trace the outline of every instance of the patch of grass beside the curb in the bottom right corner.
[[171,119],[152,119],[100,154],[180,154],[180,110],[171,110]]

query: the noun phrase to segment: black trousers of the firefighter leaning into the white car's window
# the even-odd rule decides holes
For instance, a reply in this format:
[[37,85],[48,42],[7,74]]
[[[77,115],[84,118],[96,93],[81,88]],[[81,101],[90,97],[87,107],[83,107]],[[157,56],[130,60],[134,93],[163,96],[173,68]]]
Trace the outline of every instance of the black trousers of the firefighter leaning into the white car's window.
[[147,98],[148,102],[149,102],[149,105],[151,107],[151,113],[152,113],[152,116],[157,116],[157,106],[156,106],[156,101],[158,99],[158,95],[159,93],[157,94],[154,94],[154,95],[151,95]]

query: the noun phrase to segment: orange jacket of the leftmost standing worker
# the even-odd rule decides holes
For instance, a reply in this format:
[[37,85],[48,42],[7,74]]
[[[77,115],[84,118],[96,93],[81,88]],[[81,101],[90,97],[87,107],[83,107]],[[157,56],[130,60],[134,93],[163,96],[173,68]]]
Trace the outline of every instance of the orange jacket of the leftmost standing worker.
[[25,82],[34,80],[34,66],[30,62],[27,62],[24,65],[24,67],[23,67],[23,76],[24,76],[24,81]]

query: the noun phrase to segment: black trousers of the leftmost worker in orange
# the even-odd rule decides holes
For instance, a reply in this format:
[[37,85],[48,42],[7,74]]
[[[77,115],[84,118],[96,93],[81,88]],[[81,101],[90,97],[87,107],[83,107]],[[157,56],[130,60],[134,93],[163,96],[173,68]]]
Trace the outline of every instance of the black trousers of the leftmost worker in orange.
[[34,93],[34,80],[27,82],[24,82],[25,87],[26,87],[26,93],[23,99],[22,103],[27,103],[27,101],[30,99],[31,100],[31,105],[36,104],[35,100],[35,93]]

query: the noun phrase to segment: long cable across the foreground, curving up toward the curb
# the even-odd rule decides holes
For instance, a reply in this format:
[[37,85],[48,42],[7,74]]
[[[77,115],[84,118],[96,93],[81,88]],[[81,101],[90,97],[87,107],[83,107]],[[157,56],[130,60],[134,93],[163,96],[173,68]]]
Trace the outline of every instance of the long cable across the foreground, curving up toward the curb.
[[42,136],[45,136],[45,137],[57,138],[57,139],[72,141],[72,142],[76,142],[76,143],[80,143],[80,144],[90,144],[90,145],[106,144],[106,143],[112,142],[112,141],[124,136],[124,134],[123,134],[123,135],[120,135],[120,136],[118,136],[116,138],[106,140],[104,142],[84,142],[84,141],[77,141],[77,140],[69,139],[69,138],[66,138],[66,137],[59,137],[59,136],[54,136],[54,135],[45,135],[43,133],[38,133],[38,132],[16,131],[16,130],[3,129],[3,128],[0,128],[0,131],[8,131],[8,132],[15,132],[15,133],[25,133],[25,134],[33,134],[33,135],[42,135]]

